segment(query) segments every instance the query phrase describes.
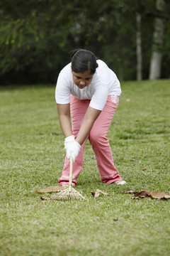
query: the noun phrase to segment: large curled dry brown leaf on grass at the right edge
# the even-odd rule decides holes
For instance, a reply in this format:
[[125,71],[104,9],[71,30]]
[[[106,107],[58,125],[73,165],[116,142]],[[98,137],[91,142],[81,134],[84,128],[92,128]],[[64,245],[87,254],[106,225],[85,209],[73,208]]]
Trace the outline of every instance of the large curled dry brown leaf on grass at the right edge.
[[139,193],[135,193],[132,197],[133,199],[137,198],[155,198],[155,199],[169,199],[170,195],[168,193],[159,192],[159,191],[141,191]]

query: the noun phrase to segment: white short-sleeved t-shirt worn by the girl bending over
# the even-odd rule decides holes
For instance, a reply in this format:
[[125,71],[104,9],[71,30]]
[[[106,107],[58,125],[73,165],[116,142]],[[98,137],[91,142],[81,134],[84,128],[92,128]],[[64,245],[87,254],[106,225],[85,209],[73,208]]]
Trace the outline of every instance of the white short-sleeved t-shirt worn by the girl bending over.
[[71,63],[66,65],[60,72],[55,90],[55,100],[58,104],[68,104],[70,94],[79,100],[91,100],[89,106],[96,110],[103,110],[108,95],[121,94],[120,82],[110,68],[102,60],[97,60],[98,68],[94,73],[91,83],[79,89],[72,78]]

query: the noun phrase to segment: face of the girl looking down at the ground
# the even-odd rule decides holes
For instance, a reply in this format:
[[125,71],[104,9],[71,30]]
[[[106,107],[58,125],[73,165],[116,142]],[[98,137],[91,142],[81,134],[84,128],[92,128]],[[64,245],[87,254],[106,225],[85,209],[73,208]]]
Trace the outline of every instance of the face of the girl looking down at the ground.
[[84,73],[75,73],[72,71],[72,77],[74,84],[77,85],[79,89],[84,89],[93,79],[93,75],[91,75],[89,71],[85,71]]

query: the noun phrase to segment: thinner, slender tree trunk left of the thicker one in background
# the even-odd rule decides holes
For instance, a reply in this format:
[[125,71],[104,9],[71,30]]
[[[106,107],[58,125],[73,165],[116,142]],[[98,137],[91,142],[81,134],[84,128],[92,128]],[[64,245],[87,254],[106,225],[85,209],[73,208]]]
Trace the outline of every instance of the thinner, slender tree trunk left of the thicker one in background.
[[141,14],[136,13],[136,55],[137,55],[137,81],[142,80],[142,40],[141,40]]

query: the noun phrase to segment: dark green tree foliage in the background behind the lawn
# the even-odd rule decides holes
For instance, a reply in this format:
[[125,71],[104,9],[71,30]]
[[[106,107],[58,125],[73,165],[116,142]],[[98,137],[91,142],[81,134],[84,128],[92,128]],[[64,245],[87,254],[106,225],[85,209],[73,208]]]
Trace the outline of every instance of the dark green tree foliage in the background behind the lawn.
[[[136,12],[142,15],[143,78],[147,78],[154,0],[1,1],[1,83],[56,82],[74,48],[94,51],[120,80],[135,80]],[[169,14],[166,1],[162,78],[169,77]]]

